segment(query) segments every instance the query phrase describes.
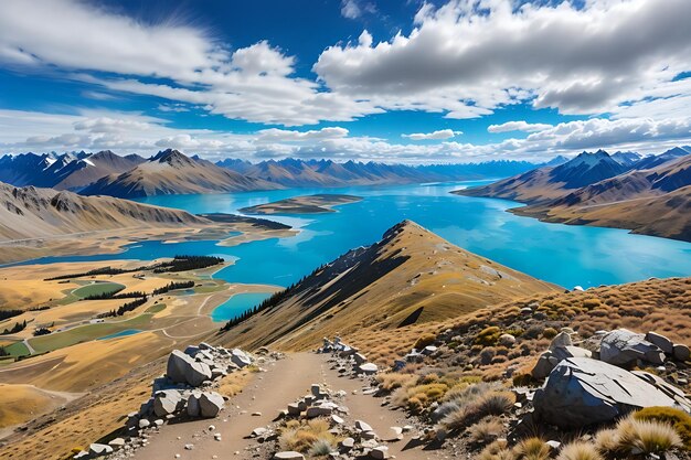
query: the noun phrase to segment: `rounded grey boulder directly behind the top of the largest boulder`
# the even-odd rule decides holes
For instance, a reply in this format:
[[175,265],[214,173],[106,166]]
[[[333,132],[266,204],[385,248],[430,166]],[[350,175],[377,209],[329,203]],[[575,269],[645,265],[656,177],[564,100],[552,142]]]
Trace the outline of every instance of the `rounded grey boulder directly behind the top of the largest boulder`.
[[662,364],[665,353],[659,346],[648,342],[644,334],[617,329],[603,336],[599,344],[599,359],[615,365],[629,365],[637,360]]

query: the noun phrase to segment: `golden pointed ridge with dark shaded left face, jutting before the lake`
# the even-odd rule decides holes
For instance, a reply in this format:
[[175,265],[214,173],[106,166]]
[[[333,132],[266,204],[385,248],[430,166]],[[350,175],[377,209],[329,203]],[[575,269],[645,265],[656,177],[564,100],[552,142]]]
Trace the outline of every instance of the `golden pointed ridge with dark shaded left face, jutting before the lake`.
[[381,242],[320,267],[221,341],[305,349],[325,335],[443,320],[554,289],[404,221]]

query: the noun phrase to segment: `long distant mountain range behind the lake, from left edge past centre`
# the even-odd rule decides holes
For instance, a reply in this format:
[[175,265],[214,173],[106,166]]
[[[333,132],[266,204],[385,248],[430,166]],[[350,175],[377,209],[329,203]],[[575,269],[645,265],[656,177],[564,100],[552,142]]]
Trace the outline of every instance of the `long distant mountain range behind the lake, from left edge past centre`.
[[98,153],[22,153],[0,158],[0,181],[94,195],[141,197],[156,194],[221,193],[277,188],[380,185],[504,178],[544,164],[488,161],[461,164],[405,165],[332,160],[267,160],[251,163],[225,159],[215,164],[168,149],[145,159]]

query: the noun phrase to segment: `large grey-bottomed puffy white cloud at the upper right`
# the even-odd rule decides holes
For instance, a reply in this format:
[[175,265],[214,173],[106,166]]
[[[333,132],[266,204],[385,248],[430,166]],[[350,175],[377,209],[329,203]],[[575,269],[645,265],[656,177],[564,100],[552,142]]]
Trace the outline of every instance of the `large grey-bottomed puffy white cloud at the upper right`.
[[564,114],[617,111],[691,69],[688,0],[453,0],[426,3],[415,22],[386,42],[331,46],[313,69],[337,93],[449,118],[519,100]]

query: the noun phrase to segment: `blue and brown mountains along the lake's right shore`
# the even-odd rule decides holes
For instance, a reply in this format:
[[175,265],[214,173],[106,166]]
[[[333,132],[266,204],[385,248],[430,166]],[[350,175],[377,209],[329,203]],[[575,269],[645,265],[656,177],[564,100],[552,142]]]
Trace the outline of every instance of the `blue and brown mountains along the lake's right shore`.
[[616,154],[583,152],[555,168],[454,193],[527,203],[511,212],[545,222],[691,240],[691,149],[676,147],[638,161]]

